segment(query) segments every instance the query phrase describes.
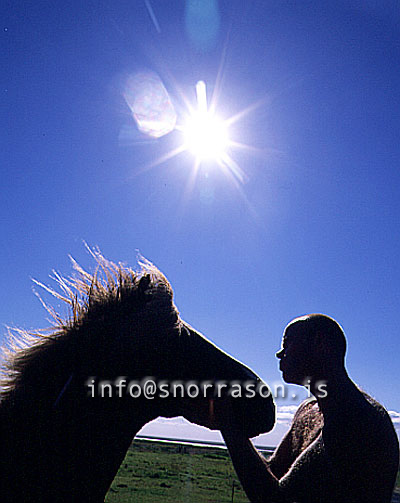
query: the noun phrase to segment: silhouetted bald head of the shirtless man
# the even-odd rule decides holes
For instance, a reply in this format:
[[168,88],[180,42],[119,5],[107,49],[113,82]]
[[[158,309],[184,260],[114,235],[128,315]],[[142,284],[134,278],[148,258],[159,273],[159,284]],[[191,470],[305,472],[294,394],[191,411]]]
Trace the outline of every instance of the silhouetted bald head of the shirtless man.
[[304,384],[307,378],[324,378],[344,369],[346,338],[341,326],[329,316],[309,314],[285,328],[282,349],[277,353],[283,379]]

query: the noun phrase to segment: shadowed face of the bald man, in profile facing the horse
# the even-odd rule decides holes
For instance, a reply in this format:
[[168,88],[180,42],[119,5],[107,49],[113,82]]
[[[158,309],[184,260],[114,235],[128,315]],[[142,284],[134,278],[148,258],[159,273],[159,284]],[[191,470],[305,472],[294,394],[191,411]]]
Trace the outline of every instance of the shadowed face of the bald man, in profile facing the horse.
[[295,325],[289,325],[282,339],[282,349],[276,354],[279,369],[288,384],[304,384],[312,376],[312,347],[309,338]]

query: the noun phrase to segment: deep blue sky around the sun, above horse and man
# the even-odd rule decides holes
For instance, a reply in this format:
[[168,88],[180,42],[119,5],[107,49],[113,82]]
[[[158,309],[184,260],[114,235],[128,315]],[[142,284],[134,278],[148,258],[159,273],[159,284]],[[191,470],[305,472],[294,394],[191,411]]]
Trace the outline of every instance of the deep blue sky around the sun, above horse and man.
[[[350,375],[400,427],[398,3],[198,5],[3,2],[0,322],[46,326],[30,278],[68,274],[68,254],[91,267],[83,241],[139,250],[182,317],[268,382],[289,320],[336,318]],[[252,147],[229,151],[245,183],[208,162],[190,186],[189,152],[147,169],[182,135],[139,133],[123,89],[143,71],[178,121],[199,80],[221,117],[251,108],[230,128]]]

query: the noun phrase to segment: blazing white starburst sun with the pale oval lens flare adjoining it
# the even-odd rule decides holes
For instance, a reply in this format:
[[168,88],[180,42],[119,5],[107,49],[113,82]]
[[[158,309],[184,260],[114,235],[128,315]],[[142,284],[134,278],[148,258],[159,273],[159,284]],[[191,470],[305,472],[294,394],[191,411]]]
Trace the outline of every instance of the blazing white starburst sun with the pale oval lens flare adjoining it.
[[158,75],[139,72],[128,79],[124,97],[138,130],[155,139],[173,131],[180,136],[176,147],[148,165],[146,170],[188,152],[194,158],[190,185],[194,185],[203,164],[206,165],[206,170],[215,165],[238,187],[248,180],[248,176],[234,158],[234,151],[240,149],[251,152],[254,149],[233,140],[230,127],[258,108],[259,104],[249,106],[231,117],[222,118],[216,113],[217,95],[219,92],[216,88],[208,106],[206,83],[203,80],[198,81],[195,102],[190,103],[182,94],[186,106],[183,113],[178,115],[173,100]]

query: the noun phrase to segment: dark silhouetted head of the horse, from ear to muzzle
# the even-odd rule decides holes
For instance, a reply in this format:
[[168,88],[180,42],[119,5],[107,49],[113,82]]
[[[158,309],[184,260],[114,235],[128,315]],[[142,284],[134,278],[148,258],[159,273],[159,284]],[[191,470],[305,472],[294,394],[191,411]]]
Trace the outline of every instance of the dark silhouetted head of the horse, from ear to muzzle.
[[[114,379],[120,376],[119,391],[123,382],[123,395],[130,407],[136,414],[141,410],[146,422],[158,416],[184,416],[218,429],[215,411],[230,397],[246,436],[270,431],[275,423],[275,404],[268,386],[183,321],[165,276],[147,261],[141,266],[141,273],[134,277],[134,288],[132,277],[124,283],[119,269],[118,328],[110,331],[109,360],[101,364],[102,369],[112,368]],[[115,323],[114,308],[107,315],[109,322],[104,306],[101,310],[102,324]],[[99,318],[98,313],[95,318]]]

